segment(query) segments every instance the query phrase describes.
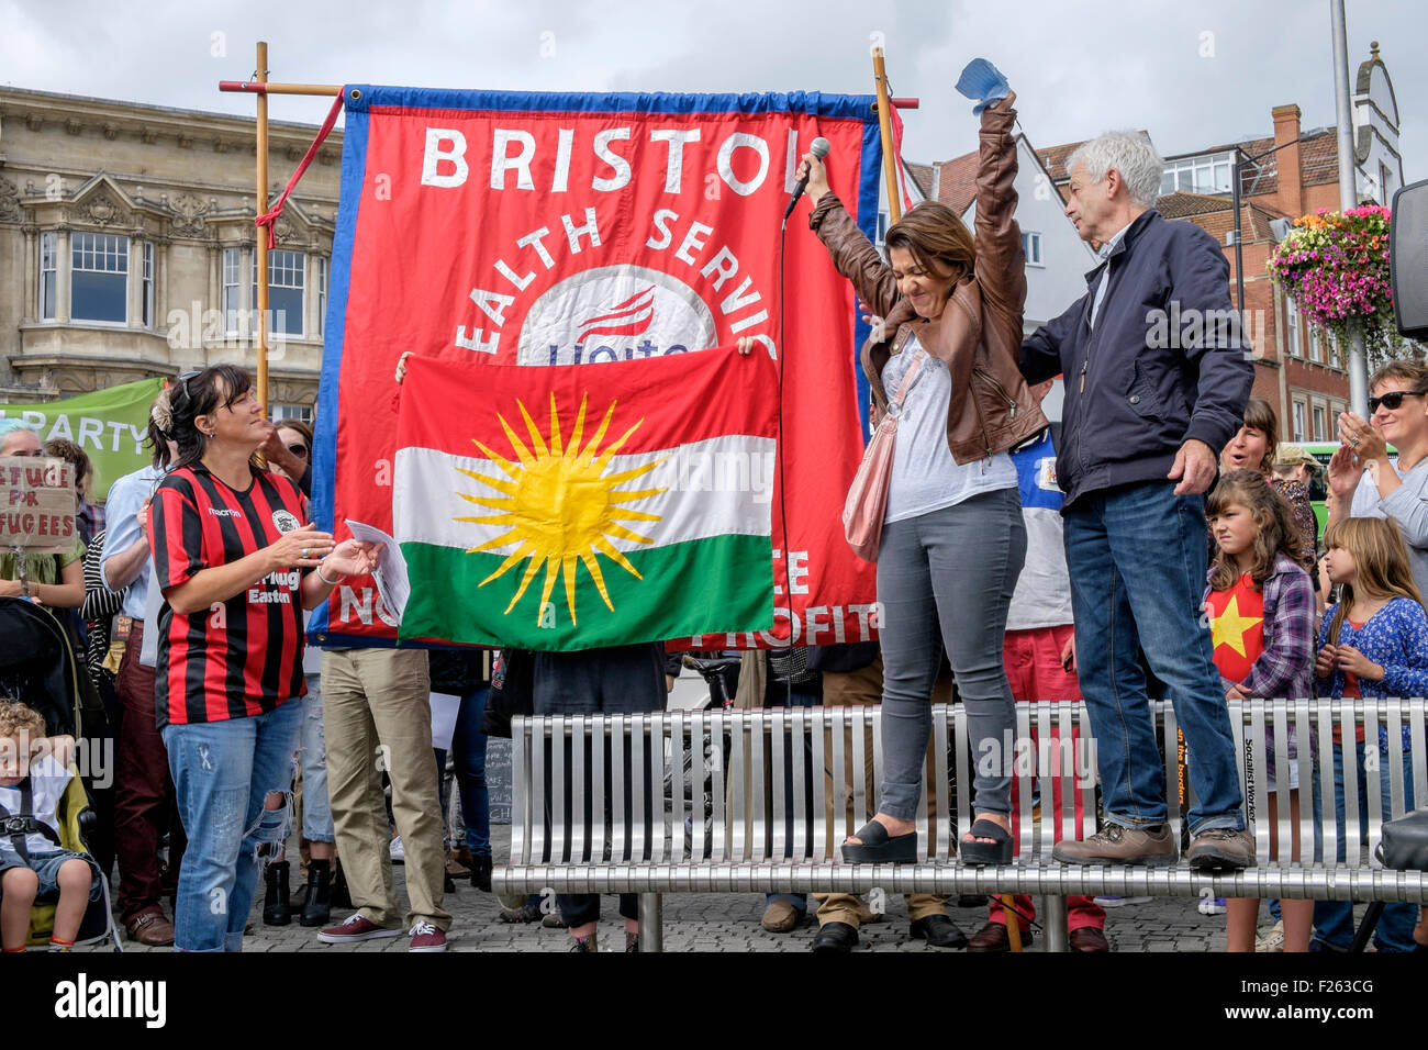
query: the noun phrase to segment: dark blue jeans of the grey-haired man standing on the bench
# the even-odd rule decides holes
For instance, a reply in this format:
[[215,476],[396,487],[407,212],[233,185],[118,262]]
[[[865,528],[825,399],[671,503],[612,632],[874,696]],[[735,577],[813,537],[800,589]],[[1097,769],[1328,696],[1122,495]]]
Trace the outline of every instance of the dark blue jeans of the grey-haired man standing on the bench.
[[1205,499],[1175,496],[1171,481],[1088,493],[1065,514],[1065,544],[1078,676],[1107,820],[1165,823],[1165,767],[1137,659],[1144,649],[1195,756],[1191,833],[1242,829],[1230,714],[1201,616]]

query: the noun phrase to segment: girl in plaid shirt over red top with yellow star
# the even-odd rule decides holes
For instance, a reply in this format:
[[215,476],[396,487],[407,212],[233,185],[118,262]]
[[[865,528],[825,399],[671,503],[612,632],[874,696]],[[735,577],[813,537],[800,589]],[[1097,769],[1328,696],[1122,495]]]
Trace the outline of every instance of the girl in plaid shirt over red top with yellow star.
[[[1205,589],[1205,613],[1215,640],[1215,666],[1225,700],[1312,696],[1314,587],[1299,557],[1299,530],[1288,501],[1257,470],[1224,474],[1205,503],[1210,533],[1218,547]],[[1289,757],[1297,740],[1289,733]],[[1278,856],[1278,784],[1274,740],[1269,754],[1269,849]],[[1297,767],[1287,777],[1292,856],[1299,859],[1299,791]],[[1314,901],[1284,900],[1284,950],[1308,951]],[[1259,901],[1225,901],[1230,951],[1254,951]]]

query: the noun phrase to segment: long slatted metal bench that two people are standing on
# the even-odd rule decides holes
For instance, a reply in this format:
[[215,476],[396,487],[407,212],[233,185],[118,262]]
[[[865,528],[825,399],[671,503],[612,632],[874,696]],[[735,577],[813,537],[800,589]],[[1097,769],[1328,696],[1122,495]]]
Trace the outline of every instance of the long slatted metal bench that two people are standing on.
[[[1181,806],[1194,800],[1174,710],[1152,704],[1164,751],[1170,821],[1181,840]],[[1425,703],[1414,700],[1254,700],[1230,704],[1257,867],[1232,874],[1184,864],[1147,869],[1074,867],[1051,859],[1060,837],[1095,830],[1092,734],[1082,703],[1017,704],[1011,741],[1018,849],[1011,864],[964,867],[957,829],[971,824],[970,786],[978,759],[960,706],[932,707],[930,759],[935,790],[918,807],[915,864],[844,864],[843,839],[877,811],[883,780],[881,711],[814,707],[663,711],[633,716],[513,720],[510,864],[497,889],[521,893],[637,893],[641,946],[661,950],[663,893],[1027,893],[1047,897],[1048,950],[1065,950],[1065,897],[1150,894],[1318,897],[1428,901],[1422,871],[1375,867],[1384,820],[1404,814],[1412,790],[1428,804]],[[1354,741],[1362,727],[1364,769],[1339,747],[1345,820],[1334,816],[1334,730]],[[1291,759],[1291,733],[1298,753]],[[1387,753],[1379,754],[1379,730]],[[1267,737],[1272,730],[1272,737]],[[1405,750],[1404,730],[1408,743]],[[1032,740],[1032,731],[1035,739]],[[1298,769],[1299,817],[1278,806],[1277,847],[1268,821],[1267,739],[1281,784]],[[578,741],[578,746],[577,746]],[[1411,764],[1405,774],[1405,753]],[[995,754],[991,756],[995,760]],[[871,764],[867,776],[855,774]],[[800,776],[801,771],[801,776]],[[1362,774],[1364,790],[1359,790]],[[1387,787],[1387,791],[1385,791]],[[1387,797],[1385,797],[1387,794]],[[1315,797],[1324,804],[1317,804]],[[1367,820],[1359,819],[1361,804]],[[1317,816],[1318,814],[1318,816]],[[1301,860],[1292,860],[1295,830]],[[1337,861],[1339,849],[1345,860]]]

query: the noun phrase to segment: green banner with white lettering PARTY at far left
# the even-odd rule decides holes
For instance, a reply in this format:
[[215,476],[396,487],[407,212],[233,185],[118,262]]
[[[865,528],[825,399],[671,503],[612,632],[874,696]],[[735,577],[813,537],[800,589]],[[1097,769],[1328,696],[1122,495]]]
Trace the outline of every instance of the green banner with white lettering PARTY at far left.
[[33,423],[41,441],[67,437],[80,446],[94,464],[90,501],[103,503],[116,480],[149,463],[149,451],[143,446],[149,433],[149,409],[163,387],[161,379],[141,379],[63,401],[0,404],[0,419]]

